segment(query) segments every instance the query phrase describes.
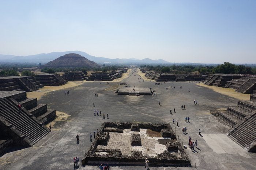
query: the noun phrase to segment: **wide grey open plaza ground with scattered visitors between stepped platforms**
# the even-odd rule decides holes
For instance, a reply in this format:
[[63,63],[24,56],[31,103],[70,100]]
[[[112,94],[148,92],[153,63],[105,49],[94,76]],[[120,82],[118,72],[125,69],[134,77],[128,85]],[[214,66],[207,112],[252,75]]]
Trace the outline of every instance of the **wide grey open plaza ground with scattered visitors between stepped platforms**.
[[[99,165],[106,163],[109,163],[111,170],[145,169],[141,164],[125,164],[113,160],[108,162],[106,159],[90,161],[85,166],[79,162],[79,166],[74,167],[73,158],[79,157],[80,161],[82,160],[94,142],[94,131],[97,134],[104,122],[170,124],[177,141],[181,144],[179,146],[187,146],[182,150],[188,156],[190,165],[152,164],[150,170],[256,169],[256,154],[246,151],[227,137],[226,133],[230,126],[219,122],[211,114],[211,110],[224,110],[228,106],[236,106],[237,100],[249,100],[248,94],[239,94],[231,89],[212,89],[202,85],[202,82],[156,84],[153,80],[146,79],[138,68],[128,70],[125,74],[127,75],[123,75],[119,82],[75,81],[60,87],[43,87],[34,92],[27,92],[27,96],[37,98],[39,104],[46,103],[48,108],[56,110],[57,118],[50,122],[50,133],[33,146],[8,149],[7,153],[0,157],[0,169],[97,170]],[[128,95],[118,95],[118,90]],[[65,94],[66,91],[69,91],[68,95]],[[153,95],[144,95],[151,92]],[[197,104],[194,101],[197,101]],[[185,109],[181,106],[185,106]],[[94,109],[101,111],[101,114],[95,115]],[[186,117],[190,118],[189,122],[185,121]],[[182,133],[184,127],[187,128],[187,133]],[[123,155],[130,155],[132,151],[142,151],[142,157],[155,157],[166,150],[165,142],[161,141],[165,138],[160,133],[153,131],[151,133],[154,134],[149,134],[146,128],[139,128],[140,132],[133,133],[131,127],[123,128],[123,133],[113,133],[112,127],[108,128],[109,144],[98,145],[97,149],[102,150],[98,151],[99,155],[107,154],[104,149],[118,149]],[[131,134],[140,135],[141,146],[131,146]],[[79,142],[76,135],[79,135]],[[195,150],[188,147],[189,136],[193,142],[197,140]],[[172,141],[172,138],[168,140]],[[182,158],[182,154],[178,152],[173,155]]]

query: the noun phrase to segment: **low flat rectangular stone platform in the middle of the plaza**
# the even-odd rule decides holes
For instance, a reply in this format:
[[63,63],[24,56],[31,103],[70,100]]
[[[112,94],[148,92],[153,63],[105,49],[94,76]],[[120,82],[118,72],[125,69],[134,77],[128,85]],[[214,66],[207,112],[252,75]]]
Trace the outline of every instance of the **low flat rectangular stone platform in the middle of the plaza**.
[[[135,89],[135,91],[133,91]],[[152,95],[149,88],[123,87],[117,91],[118,95]]]

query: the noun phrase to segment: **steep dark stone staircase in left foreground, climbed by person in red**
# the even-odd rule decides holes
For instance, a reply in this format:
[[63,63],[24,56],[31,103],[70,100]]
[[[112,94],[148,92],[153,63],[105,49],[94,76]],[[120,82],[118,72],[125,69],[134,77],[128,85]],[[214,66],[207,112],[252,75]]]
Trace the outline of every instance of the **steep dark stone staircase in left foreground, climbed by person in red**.
[[0,99],[0,117],[25,135],[26,138],[33,142],[33,145],[48,134],[48,130],[24,109],[23,107],[19,109],[11,99]]

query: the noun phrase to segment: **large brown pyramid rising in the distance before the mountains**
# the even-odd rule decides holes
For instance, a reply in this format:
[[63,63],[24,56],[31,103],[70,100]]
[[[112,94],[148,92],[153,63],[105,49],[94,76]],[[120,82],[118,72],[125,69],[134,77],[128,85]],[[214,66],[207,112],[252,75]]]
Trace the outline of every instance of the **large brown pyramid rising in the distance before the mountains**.
[[87,58],[76,54],[70,53],[60,56],[59,58],[50,61],[49,63],[42,65],[42,67],[58,68],[58,67],[98,67],[99,64],[88,60]]

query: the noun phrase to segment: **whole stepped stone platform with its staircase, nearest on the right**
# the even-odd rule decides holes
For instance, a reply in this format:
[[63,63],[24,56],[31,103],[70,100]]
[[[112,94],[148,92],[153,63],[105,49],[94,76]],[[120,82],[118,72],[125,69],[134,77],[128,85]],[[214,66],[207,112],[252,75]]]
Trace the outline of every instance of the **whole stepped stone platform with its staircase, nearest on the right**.
[[256,152],[256,95],[248,101],[237,101],[237,106],[214,114],[231,126],[227,135],[245,150]]

